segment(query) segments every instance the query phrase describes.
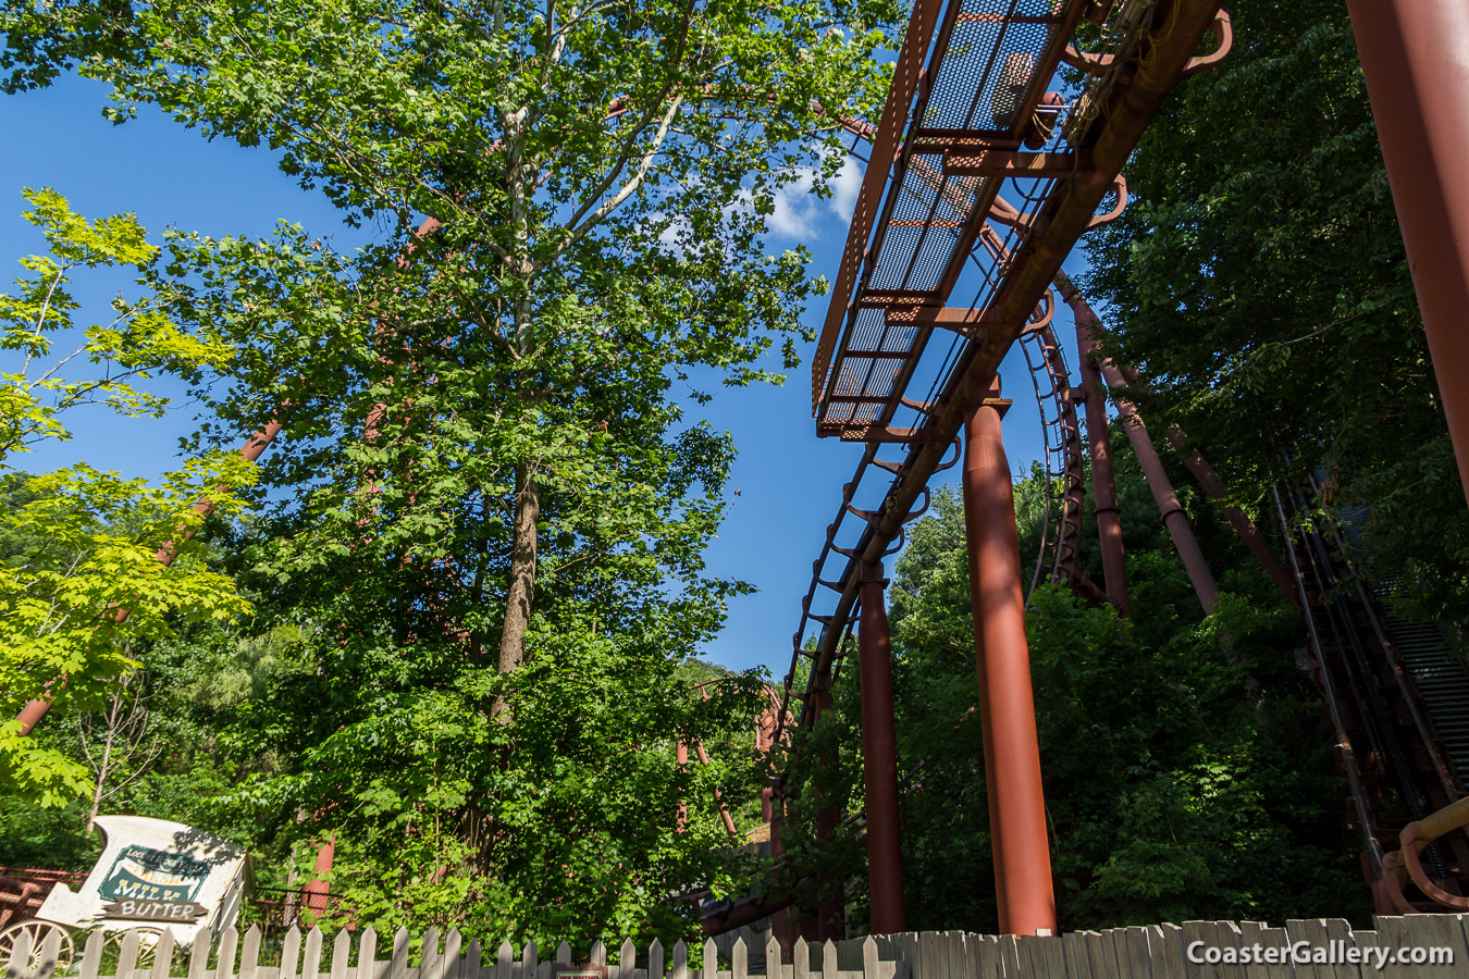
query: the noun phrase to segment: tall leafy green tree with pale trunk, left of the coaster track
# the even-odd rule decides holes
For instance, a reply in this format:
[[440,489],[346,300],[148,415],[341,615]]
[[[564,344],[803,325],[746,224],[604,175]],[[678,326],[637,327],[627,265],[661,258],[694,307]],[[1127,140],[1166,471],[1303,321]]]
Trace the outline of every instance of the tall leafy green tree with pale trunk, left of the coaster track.
[[160,272],[181,316],[235,348],[201,390],[201,445],[285,424],[261,480],[279,505],[232,569],[261,625],[301,625],[304,668],[251,712],[241,743],[279,768],[234,798],[276,853],[335,834],[333,888],[369,917],[677,931],[695,906],[668,894],[737,879],[712,788],[739,797],[749,759],[673,760],[680,737],[739,744],[759,706],[754,678],[705,702],[677,669],[745,587],[704,574],[733,449],[686,411],[793,365],[824,283],[804,251],[767,252],[765,219],[795,181],[829,192],[837,116],[880,104],[898,16],[887,0],[3,15],[12,88],[75,68],[113,85],[116,117],[153,103],[269,144],[380,229],[353,254],[292,226],[178,235]]

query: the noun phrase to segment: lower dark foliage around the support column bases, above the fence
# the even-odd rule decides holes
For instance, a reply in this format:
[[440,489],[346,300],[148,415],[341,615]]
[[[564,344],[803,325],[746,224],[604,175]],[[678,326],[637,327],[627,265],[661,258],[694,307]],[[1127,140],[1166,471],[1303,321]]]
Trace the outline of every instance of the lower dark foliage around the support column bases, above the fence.
[[[1191,518],[1224,587],[1202,609],[1158,518],[1134,456],[1114,432],[1138,616],[1091,608],[1042,586],[1028,614],[1040,750],[1062,928],[1159,920],[1371,911],[1338,800],[1346,787],[1310,677],[1296,662],[1299,621],[1269,578],[1230,540],[1202,492]],[[1044,476],[1017,484],[1022,553],[1039,545]],[[1094,527],[1087,523],[1090,559]],[[892,594],[903,870],[908,925],[995,928],[983,744],[975,703],[964,517],[937,493],[898,561]],[[855,672],[848,669],[843,674]],[[836,687],[814,740],[833,766],[799,772],[802,823],[824,800],[862,804],[861,693]],[[839,867],[865,878],[849,825],[830,845],[793,828],[792,876]],[[858,889],[859,891],[859,889]],[[815,903],[815,894],[806,898]],[[861,928],[865,907],[849,906]]]

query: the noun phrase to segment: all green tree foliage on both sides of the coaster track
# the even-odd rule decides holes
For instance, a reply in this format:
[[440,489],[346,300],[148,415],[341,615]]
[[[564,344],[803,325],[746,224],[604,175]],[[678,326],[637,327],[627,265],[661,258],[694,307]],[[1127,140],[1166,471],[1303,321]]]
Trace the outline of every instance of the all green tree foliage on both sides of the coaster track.
[[[1368,559],[1418,572],[1425,608],[1462,611],[1463,501],[1344,7],[1231,10],[1234,54],[1169,100],[1128,167],[1134,203],[1089,245],[1106,343],[1152,382],[1133,393],[1155,429],[1181,423],[1244,506],[1319,467],[1324,502],[1374,502]],[[88,801],[106,797],[241,841],[270,885],[300,885],[331,838],[338,916],[379,929],[671,936],[695,906],[670,895],[746,887],[714,790],[755,797],[758,680],[692,660],[746,587],[702,562],[733,446],[693,417],[705,395],[687,385],[767,379],[777,345],[793,363],[823,283],[804,252],[765,254],[764,219],[783,185],[826,191],[834,113],[870,116],[883,92],[895,4],[159,0],[0,16],[10,88],[103,79],[119,120],[150,103],[267,144],[380,232],[353,252],[291,225],[170,232],[156,250],[135,223],[38,200],[59,252],[0,310],[7,349],[43,346],[37,296],[88,261],[68,248],[137,267],[167,314],[118,313],[153,360],[126,361],[138,329],[93,342],[195,382],[191,449],[219,471],[166,490],[81,471],[4,484],[12,577],[53,602],[81,574],[132,577],[88,590],[87,625],[65,637],[4,618],[7,710],[68,680],[32,740],[3,729],[19,760],[0,791],[56,807],[0,804],[0,863],[84,866]],[[1247,139],[1221,123],[1246,117]],[[56,433],[24,374],[6,377],[0,461],[7,432]],[[256,512],[203,527],[163,587],[154,550],[200,524],[200,493],[247,480],[219,451],[270,421],[284,433]],[[1064,926],[1359,917],[1296,619],[1178,473],[1224,590],[1202,621],[1114,443],[1137,615],[1055,587],[1030,612]],[[1027,555],[1040,495],[1039,476],[1017,487]],[[0,599],[19,608],[26,589]],[[909,925],[989,931],[952,495],[914,527],[890,594]],[[101,615],[123,605],[128,631]],[[711,678],[715,696],[690,694]],[[814,879],[806,904],[864,879],[855,820],[830,845],[811,834],[823,810],[861,807],[858,706],[849,672],[793,772],[777,882]],[[680,768],[680,740],[724,750]],[[132,747],[88,766],[103,743]],[[865,920],[859,898],[848,916]]]

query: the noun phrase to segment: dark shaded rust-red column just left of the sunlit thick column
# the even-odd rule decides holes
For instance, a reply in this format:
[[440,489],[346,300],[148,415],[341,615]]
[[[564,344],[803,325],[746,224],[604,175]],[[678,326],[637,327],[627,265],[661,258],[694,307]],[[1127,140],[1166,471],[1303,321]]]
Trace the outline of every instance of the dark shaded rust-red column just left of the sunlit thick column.
[[874,935],[908,931],[903,910],[903,837],[898,815],[898,722],[893,718],[893,647],[881,565],[861,569],[856,627],[862,683],[862,782],[867,801],[867,887]]

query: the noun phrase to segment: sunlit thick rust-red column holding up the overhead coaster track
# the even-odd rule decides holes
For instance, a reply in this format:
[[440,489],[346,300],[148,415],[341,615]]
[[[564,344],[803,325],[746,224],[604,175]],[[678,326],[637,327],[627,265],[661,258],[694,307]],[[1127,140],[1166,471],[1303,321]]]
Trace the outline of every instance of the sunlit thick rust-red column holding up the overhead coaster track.
[[1056,898],[1030,685],[1015,499],[1000,439],[1000,410],[1008,402],[997,395],[996,382],[992,398],[968,421],[964,456],[964,523],[996,894],[1003,933],[1053,935]]

